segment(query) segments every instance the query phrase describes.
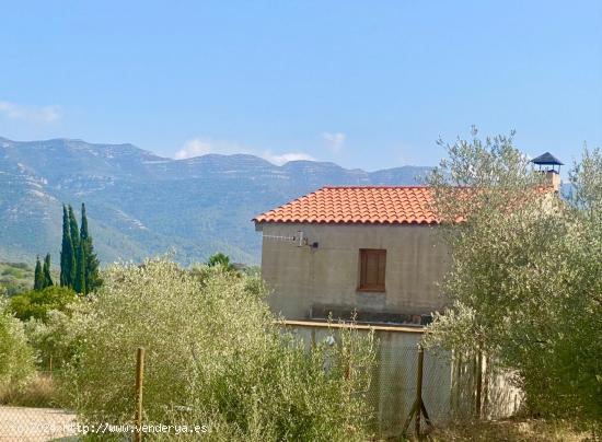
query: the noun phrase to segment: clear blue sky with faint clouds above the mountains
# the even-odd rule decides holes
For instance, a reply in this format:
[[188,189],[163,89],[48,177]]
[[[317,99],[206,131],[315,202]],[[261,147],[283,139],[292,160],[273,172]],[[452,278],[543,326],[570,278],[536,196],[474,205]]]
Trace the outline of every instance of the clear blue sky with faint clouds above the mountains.
[[13,1],[0,136],[377,170],[517,130],[602,146],[602,2]]

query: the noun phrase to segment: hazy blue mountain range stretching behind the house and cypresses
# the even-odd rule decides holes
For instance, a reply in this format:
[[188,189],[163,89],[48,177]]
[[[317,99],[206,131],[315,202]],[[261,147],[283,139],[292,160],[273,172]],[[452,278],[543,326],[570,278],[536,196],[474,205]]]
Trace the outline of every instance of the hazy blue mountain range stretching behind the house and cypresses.
[[62,203],[85,202],[103,263],[173,253],[183,264],[223,252],[256,264],[251,219],[324,185],[412,185],[429,167],[377,172],[248,154],[173,160],[132,144],[0,138],[0,261],[58,263]]

